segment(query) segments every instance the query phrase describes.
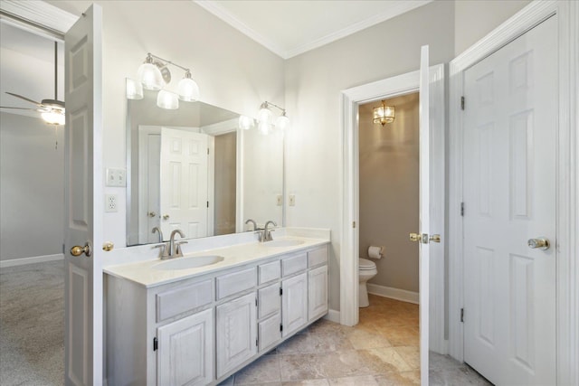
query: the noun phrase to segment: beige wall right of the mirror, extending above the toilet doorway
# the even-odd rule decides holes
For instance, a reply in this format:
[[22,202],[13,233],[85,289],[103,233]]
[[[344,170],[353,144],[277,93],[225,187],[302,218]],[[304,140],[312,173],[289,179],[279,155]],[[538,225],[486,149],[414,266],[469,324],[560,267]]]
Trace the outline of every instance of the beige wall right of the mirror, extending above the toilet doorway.
[[431,62],[450,61],[454,4],[433,2],[286,62],[289,226],[329,228],[330,307],[339,309],[341,127],[340,90],[416,71],[420,47],[430,44]]

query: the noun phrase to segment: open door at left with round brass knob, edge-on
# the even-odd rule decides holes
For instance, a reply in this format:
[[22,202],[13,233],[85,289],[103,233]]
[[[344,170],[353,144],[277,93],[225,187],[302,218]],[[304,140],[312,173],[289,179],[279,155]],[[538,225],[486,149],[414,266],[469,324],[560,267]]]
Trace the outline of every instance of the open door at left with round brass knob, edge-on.
[[[102,384],[102,9],[65,35],[64,382]],[[73,248],[78,247],[78,248]],[[75,255],[75,256],[73,256]]]

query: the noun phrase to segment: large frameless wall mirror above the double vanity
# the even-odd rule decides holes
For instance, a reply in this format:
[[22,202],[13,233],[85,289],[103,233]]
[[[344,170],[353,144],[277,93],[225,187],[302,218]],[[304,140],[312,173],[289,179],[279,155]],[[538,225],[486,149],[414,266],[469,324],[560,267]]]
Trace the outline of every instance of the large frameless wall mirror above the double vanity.
[[[127,99],[127,245],[283,225],[283,134],[242,130],[239,114],[203,102]],[[153,232],[155,228],[161,232]]]

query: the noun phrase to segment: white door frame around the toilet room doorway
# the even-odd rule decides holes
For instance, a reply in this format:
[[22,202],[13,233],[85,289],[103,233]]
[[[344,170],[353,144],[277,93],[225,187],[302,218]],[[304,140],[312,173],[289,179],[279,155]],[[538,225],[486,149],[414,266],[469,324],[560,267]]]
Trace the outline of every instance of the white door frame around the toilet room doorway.
[[[441,80],[444,77],[444,65],[430,68],[431,80]],[[359,166],[358,166],[358,105],[378,99],[419,91],[419,71],[408,72],[385,80],[378,80],[341,92],[340,116],[342,127],[342,188],[341,201],[341,237],[340,237],[340,324],[356,325],[358,323],[358,243],[357,223],[359,217]],[[441,82],[435,82],[441,83]],[[444,104],[444,89],[432,87],[433,103]],[[431,103],[432,103],[431,102]],[[439,127],[444,127],[444,119]],[[437,138],[436,146],[444,146],[444,135]],[[443,176],[442,176],[443,178]],[[444,185],[435,187],[444,197]],[[440,208],[439,208],[440,209]],[[441,209],[443,215],[444,211]],[[441,230],[441,232],[444,230]],[[431,296],[436,301],[431,304],[430,326],[432,350],[445,353],[444,341],[444,261],[441,264],[431,264]],[[434,327],[434,329],[432,328]]]

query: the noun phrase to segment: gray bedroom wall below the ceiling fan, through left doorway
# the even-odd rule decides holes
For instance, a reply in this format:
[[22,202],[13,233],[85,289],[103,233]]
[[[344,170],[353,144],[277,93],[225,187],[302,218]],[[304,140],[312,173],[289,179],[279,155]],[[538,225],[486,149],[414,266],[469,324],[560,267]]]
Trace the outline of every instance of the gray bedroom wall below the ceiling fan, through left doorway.
[[62,134],[41,118],[0,113],[0,260],[62,253]]

